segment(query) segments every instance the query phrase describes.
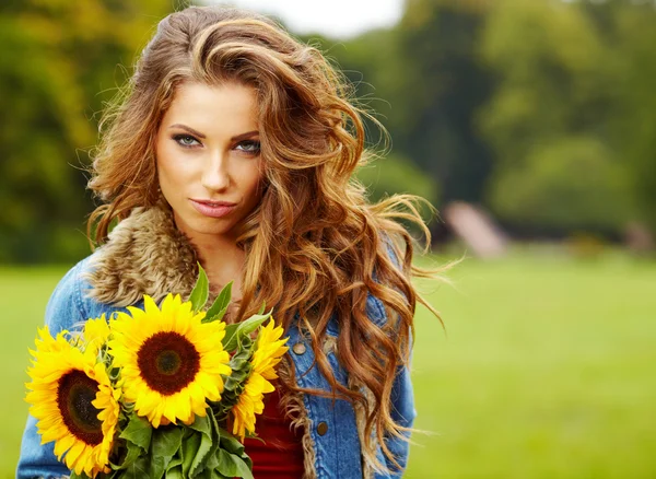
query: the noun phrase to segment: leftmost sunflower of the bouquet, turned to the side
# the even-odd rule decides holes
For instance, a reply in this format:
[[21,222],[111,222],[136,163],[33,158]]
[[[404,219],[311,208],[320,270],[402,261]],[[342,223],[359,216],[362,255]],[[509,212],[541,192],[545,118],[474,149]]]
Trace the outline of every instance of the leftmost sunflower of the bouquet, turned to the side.
[[42,444],[55,441],[55,454],[69,469],[90,477],[109,472],[109,453],[118,422],[120,393],[112,387],[105,365],[66,338],[38,330],[32,378],[25,400],[37,420]]

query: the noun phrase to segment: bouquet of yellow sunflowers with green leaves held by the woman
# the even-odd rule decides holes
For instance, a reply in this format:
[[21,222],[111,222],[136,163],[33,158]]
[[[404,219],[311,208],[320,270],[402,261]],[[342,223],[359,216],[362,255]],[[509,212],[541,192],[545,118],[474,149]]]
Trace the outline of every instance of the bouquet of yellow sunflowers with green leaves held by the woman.
[[199,266],[189,301],[168,294],[157,306],[144,295],[143,307],[79,331],[38,330],[26,400],[71,478],[253,478],[243,441],[286,338],[263,305],[226,325],[231,289],[204,312]]

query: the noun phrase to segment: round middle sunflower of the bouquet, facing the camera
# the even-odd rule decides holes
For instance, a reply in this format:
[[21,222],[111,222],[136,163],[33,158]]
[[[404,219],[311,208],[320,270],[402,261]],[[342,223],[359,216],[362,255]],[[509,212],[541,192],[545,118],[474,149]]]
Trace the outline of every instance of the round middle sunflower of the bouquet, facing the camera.
[[128,306],[112,322],[109,353],[121,367],[121,386],[128,402],[154,428],[206,416],[207,400],[219,401],[221,375],[230,375],[230,355],[221,340],[225,324],[201,323],[191,303],[168,294],[160,309],[143,296],[143,309]]

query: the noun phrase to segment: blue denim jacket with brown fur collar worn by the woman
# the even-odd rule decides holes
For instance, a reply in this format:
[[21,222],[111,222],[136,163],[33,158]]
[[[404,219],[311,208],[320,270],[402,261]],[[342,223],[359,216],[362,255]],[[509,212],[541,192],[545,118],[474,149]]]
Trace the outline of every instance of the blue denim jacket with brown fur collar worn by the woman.
[[[179,281],[181,277],[166,278],[163,283],[155,284],[154,287],[152,282],[149,283],[148,281],[143,284],[125,284],[125,278],[130,278],[131,272],[137,270],[149,271],[149,269],[139,269],[144,266],[153,268],[150,272],[157,276],[159,258],[153,258],[152,250],[148,255],[148,261],[139,265],[139,258],[130,257],[125,249],[128,247],[130,250],[143,250],[143,248],[134,247],[134,242],[139,242],[139,232],[142,231],[140,226],[142,226],[143,222],[148,221],[149,226],[153,222],[156,224],[157,221],[165,223],[165,217],[155,215],[153,218],[148,211],[141,214],[141,217],[143,218],[132,214],[130,218],[124,220],[114,230],[109,242],[105,246],[75,265],[59,282],[46,307],[46,324],[51,335],[56,335],[62,329],[72,329],[74,325],[87,318],[99,317],[102,314],[109,317],[114,312],[126,311],[125,306],[128,304],[139,304],[139,301],[133,301],[133,297],[124,299],[124,304],[120,304],[120,302],[117,304],[116,301],[103,301],[102,290],[104,288],[106,292],[112,291],[115,293],[124,287],[129,287],[130,292],[138,289],[140,294],[145,293],[151,295],[157,292],[153,291],[153,288],[155,290],[163,290],[160,291],[161,293],[180,291],[176,287],[180,288]],[[171,255],[172,249],[166,247],[161,248],[161,250],[168,253],[163,255],[166,256],[166,261],[162,262],[162,265],[168,262],[171,267],[177,267],[176,271],[183,270],[183,276],[188,276],[184,272],[185,267],[180,266],[181,264],[176,265],[176,260],[179,260],[179,256],[185,255],[185,248],[188,248],[189,245],[180,243],[180,236],[174,234],[166,235],[166,233],[171,233],[171,231],[164,229],[165,236],[155,236],[157,243],[163,237],[168,238],[177,249],[175,249],[176,254]],[[137,240],[134,240],[136,236]],[[148,241],[152,242],[152,236],[149,236]],[[172,256],[176,255],[178,257],[172,258]],[[116,261],[120,262],[122,259],[127,260],[125,267],[130,267],[131,271],[126,271],[122,267],[119,268],[120,265]],[[107,265],[113,270],[119,270],[116,271],[115,278],[107,278],[112,276],[110,270],[103,269]],[[98,276],[96,274],[96,281],[94,282],[93,274],[98,272],[98,270],[99,273],[104,274],[103,280],[98,280]],[[195,279],[195,274],[191,278],[184,278],[188,283],[192,283]],[[166,290],[165,288],[172,289]],[[101,290],[101,293],[98,294],[95,289]],[[95,297],[94,293],[96,293]],[[128,294],[124,294],[124,296]],[[154,297],[157,300],[156,296]],[[366,312],[372,322],[382,324],[386,320],[383,303],[371,294],[367,296]],[[301,387],[330,392],[328,379],[315,364],[315,354],[308,337],[303,334],[303,330],[300,331],[296,327],[290,328],[286,332],[290,337],[288,342],[290,351],[288,354],[296,370],[296,384]],[[338,323],[332,317],[328,324],[324,351],[327,353],[328,362],[332,367],[336,379],[344,386],[352,387],[353,385],[349,384],[345,370],[337,360],[335,348],[338,334]],[[363,436],[365,418],[359,408],[354,408],[350,402],[342,399],[333,401],[331,398],[315,395],[301,394],[292,397],[291,400],[297,401],[295,405],[296,410],[300,412],[297,421],[303,427],[305,478],[350,479],[371,477],[378,479],[401,477],[402,471],[377,471],[364,459],[361,454],[360,444]],[[391,400],[395,421],[402,427],[411,428],[415,410],[410,373],[406,366],[401,366],[398,370]],[[394,453],[397,462],[405,467],[408,459],[408,442],[397,437],[388,437],[386,444]],[[376,457],[380,464],[387,464],[379,445],[377,445]],[[391,464],[388,464],[388,467],[394,470]],[[54,443],[40,444],[40,437],[36,430],[36,420],[30,416],[23,434],[16,478],[58,478],[68,476],[68,474],[69,470],[66,466],[57,462],[54,455]]]

